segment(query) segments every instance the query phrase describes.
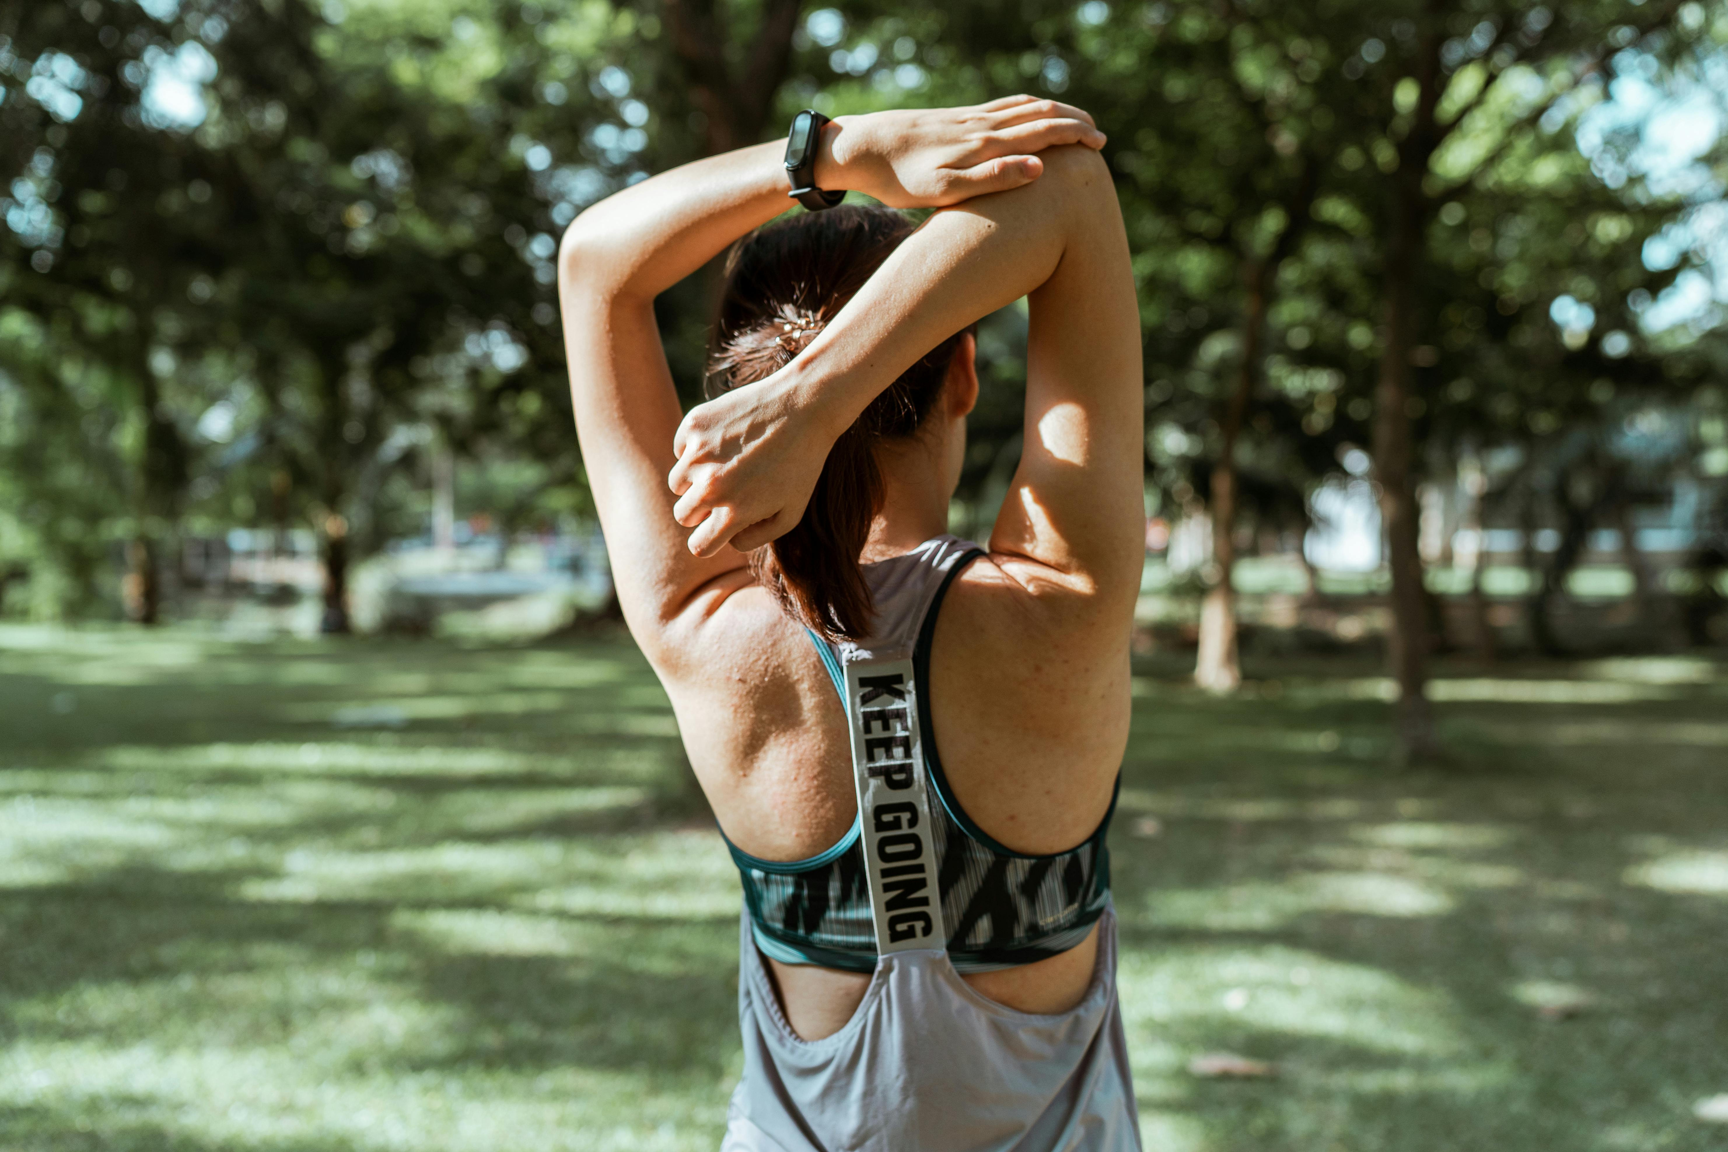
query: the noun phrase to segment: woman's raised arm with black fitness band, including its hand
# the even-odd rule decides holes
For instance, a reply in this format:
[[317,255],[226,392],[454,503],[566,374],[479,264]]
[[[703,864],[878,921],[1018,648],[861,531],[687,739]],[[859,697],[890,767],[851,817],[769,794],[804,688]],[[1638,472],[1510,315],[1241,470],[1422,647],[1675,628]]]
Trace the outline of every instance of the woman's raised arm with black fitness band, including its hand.
[[[938,207],[1033,181],[1037,152],[1075,142],[1097,147],[1102,136],[1085,112],[1030,97],[876,112],[828,126],[816,180],[897,207]],[[778,142],[740,149],[626,188],[577,216],[558,254],[582,461],[619,601],[650,648],[670,618],[702,610],[705,591],[724,598],[743,568],[738,554],[693,556],[672,520],[665,477],[681,411],[653,297],[786,211],[781,152]]]

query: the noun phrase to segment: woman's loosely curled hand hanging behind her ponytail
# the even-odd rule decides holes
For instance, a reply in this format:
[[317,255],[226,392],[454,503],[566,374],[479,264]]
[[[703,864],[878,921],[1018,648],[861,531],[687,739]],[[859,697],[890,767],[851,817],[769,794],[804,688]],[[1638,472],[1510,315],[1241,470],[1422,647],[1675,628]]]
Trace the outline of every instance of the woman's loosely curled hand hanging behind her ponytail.
[[679,497],[672,518],[695,529],[691,554],[714,556],[726,544],[748,553],[790,532],[836,439],[785,370],[689,409],[672,439],[677,465],[667,484]]

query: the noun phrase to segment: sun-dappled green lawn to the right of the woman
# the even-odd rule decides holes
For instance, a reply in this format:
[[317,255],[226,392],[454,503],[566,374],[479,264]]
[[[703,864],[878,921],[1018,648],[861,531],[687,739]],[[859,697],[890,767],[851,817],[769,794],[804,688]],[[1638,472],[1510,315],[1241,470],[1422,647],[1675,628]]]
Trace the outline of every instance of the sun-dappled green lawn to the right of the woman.
[[[1370,743],[1384,705],[1277,672],[1232,701],[1139,693],[1113,865],[1149,1131],[1712,1147],[1690,1109],[1728,1086],[1728,770],[1700,755],[1723,680],[1619,705],[1472,689],[1441,712],[1457,767],[1400,774]],[[1630,737],[1547,739],[1581,722]],[[1403,1050],[1412,1028],[1436,1048]],[[1185,1073],[1220,1048],[1280,1076]]]

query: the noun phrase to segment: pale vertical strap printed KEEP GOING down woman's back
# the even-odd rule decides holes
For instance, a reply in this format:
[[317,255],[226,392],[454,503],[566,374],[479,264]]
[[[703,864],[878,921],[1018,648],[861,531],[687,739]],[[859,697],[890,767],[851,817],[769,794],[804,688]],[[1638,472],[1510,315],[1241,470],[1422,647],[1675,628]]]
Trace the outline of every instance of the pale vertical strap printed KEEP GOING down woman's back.
[[876,953],[947,948],[912,660],[847,661],[852,779]]

